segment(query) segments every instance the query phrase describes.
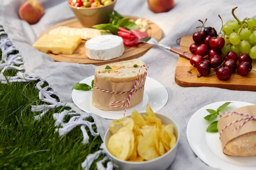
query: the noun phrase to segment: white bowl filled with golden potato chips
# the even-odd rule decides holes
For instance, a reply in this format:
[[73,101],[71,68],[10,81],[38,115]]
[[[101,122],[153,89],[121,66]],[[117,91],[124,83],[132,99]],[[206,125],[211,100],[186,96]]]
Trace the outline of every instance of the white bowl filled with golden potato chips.
[[148,105],[146,113],[133,111],[113,120],[104,143],[120,170],[166,170],[175,159],[179,139],[176,123]]

